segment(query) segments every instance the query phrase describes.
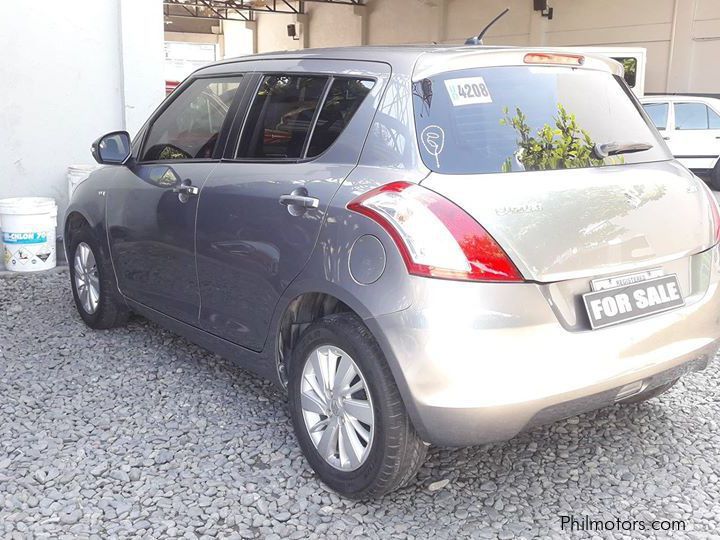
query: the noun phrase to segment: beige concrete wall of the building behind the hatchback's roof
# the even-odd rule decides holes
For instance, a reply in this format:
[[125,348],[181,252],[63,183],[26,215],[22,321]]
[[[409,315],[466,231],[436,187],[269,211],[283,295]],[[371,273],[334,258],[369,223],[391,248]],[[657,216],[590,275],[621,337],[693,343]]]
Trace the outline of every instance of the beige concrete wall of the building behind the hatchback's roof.
[[290,15],[258,17],[257,51],[337,45],[462,43],[506,6],[486,43],[637,46],[648,50],[646,91],[720,93],[720,0],[368,0],[364,8],[306,3],[305,41]]

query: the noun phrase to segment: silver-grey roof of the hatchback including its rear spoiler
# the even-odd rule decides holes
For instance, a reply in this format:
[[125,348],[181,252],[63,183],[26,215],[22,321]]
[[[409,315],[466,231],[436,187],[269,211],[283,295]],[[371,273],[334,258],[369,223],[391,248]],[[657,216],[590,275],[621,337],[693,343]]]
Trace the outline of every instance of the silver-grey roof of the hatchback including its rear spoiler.
[[[495,45],[384,45],[361,47],[332,47],[323,49],[302,49],[277,51],[229,58],[215,62],[198,72],[210,70],[218,72],[222,68],[231,68],[243,62],[264,60],[347,60],[383,62],[392,66],[396,73],[412,75],[416,67],[429,76],[433,72],[462,69],[464,63],[474,61],[474,66],[522,64],[524,54],[528,52],[572,53],[572,47],[513,47]],[[619,63],[599,54],[580,52],[585,57],[582,68],[601,69],[619,74]],[[482,60],[481,60],[482,59]],[[479,61],[479,62],[478,62]],[[478,66],[479,63],[479,66]],[[454,66],[454,67],[453,67]],[[471,67],[467,65],[466,67]]]

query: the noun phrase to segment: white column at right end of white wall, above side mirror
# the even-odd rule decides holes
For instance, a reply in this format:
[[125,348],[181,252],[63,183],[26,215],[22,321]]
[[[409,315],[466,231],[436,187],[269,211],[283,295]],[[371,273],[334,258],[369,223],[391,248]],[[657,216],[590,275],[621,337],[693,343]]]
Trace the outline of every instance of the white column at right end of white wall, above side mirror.
[[162,0],[120,0],[119,8],[122,118],[132,136],[165,98]]

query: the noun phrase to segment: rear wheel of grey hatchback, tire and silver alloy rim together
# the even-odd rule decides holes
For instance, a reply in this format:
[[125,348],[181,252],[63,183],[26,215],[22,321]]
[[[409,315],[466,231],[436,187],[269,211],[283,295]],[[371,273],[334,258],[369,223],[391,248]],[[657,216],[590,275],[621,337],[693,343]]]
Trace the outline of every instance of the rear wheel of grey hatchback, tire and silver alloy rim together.
[[426,445],[367,327],[341,313],[312,324],[289,366],[290,414],[320,479],[341,495],[378,497],[408,483]]

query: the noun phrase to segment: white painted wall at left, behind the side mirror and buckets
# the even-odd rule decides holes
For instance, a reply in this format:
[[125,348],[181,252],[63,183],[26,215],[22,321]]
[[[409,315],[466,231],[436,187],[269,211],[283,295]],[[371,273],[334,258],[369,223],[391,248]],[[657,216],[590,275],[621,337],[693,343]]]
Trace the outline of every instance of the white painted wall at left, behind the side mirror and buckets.
[[0,17],[0,198],[54,197],[90,144],[164,97],[161,0],[35,0]]

